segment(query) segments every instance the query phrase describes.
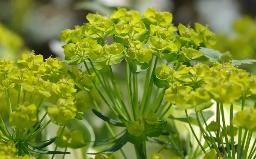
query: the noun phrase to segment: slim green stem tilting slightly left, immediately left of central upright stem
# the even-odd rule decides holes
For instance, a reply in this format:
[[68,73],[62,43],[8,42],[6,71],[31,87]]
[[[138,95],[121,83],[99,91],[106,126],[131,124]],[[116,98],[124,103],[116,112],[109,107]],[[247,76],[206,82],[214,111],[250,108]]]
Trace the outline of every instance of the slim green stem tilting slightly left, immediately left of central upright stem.
[[134,106],[133,106],[132,91],[131,91],[131,71],[129,70],[129,65],[126,60],[125,60],[125,75],[126,75],[126,85],[127,85],[127,89],[128,89],[130,107],[131,107],[134,121],[135,121],[136,115],[135,115],[135,110],[134,110]]

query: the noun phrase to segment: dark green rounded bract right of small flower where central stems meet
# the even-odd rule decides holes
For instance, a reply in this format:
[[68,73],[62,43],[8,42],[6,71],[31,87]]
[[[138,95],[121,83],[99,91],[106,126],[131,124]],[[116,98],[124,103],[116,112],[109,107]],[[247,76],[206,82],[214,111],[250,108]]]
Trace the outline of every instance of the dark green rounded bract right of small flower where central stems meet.
[[153,125],[149,125],[145,122],[145,133],[150,138],[157,138],[163,133],[163,128],[166,125],[166,121],[159,120],[155,122]]

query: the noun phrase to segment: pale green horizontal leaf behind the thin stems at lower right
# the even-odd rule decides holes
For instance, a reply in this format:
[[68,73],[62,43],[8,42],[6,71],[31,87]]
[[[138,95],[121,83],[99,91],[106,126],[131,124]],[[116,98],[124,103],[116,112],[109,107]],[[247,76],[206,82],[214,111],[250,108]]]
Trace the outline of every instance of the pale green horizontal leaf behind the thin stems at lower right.
[[[210,118],[214,115],[213,111],[202,111],[202,113],[204,114],[204,118],[205,118],[206,121],[207,121],[208,119],[210,119]],[[198,115],[199,115],[199,118],[200,118],[200,119],[199,119],[200,122],[203,124],[203,123],[204,123],[204,120],[202,119],[201,114],[198,114]],[[171,119],[176,119],[176,120],[179,120],[179,121],[181,121],[181,122],[186,122],[186,123],[188,123],[188,119],[186,118],[186,115],[182,115],[182,116],[177,117],[177,118],[174,117],[174,116],[172,116],[172,115],[170,115],[169,118],[171,118]],[[189,120],[190,120],[191,124],[198,126],[198,121],[197,121],[197,119],[196,119],[195,113],[189,114]]]

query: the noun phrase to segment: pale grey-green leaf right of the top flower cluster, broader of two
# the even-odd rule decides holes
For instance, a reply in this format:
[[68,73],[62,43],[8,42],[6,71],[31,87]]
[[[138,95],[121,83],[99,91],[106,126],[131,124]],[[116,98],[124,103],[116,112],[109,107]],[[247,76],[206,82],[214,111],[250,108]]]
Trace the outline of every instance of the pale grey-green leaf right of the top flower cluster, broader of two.
[[220,60],[221,60],[222,54],[218,50],[214,50],[212,48],[201,47],[199,49],[199,51],[201,51],[205,57],[208,57],[210,62],[215,62],[215,60],[218,60],[218,62],[220,62]]

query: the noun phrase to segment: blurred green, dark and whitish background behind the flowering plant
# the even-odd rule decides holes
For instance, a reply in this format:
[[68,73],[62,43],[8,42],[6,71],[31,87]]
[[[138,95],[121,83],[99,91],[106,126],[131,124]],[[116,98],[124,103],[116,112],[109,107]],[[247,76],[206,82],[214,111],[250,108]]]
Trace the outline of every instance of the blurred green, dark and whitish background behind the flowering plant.
[[[256,59],[256,0],[0,0],[0,56],[17,60],[22,53],[34,50],[44,58],[52,55],[63,59],[61,31],[87,23],[88,13],[110,15],[117,7],[142,14],[148,7],[169,11],[175,26],[208,24],[217,36],[215,49],[230,51],[236,60]],[[123,69],[115,68],[115,72]],[[256,64],[241,68],[256,74]],[[125,85],[120,75],[119,84],[122,83]],[[0,113],[3,112],[0,106]],[[92,125],[96,139],[109,137],[103,122],[93,118],[92,113],[88,112],[85,118]],[[155,148],[152,146],[149,152]],[[131,145],[125,147],[126,152],[130,149],[133,150]]]

